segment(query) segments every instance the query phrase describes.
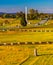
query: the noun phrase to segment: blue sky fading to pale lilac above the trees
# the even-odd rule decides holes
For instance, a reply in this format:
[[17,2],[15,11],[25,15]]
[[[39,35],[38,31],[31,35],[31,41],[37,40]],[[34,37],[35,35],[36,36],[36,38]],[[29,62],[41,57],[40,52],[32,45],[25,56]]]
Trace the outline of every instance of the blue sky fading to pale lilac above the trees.
[[53,13],[53,0],[0,0],[0,12],[24,11],[25,6],[39,12]]

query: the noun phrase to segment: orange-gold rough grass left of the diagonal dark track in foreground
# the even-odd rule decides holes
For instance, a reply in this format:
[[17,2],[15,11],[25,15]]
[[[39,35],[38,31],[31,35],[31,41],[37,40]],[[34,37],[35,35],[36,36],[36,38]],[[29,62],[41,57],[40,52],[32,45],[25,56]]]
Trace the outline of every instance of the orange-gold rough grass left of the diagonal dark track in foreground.
[[18,65],[28,56],[26,51],[20,46],[0,46],[0,65]]

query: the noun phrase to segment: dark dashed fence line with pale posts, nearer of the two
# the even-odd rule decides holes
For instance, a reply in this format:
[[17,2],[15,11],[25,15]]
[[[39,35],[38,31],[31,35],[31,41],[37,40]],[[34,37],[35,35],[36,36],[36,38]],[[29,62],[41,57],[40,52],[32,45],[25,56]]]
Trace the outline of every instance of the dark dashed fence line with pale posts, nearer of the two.
[[13,46],[13,45],[39,45],[39,44],[53,44],[53,42],[16,42],[16,43],[0,43],[0,46]]

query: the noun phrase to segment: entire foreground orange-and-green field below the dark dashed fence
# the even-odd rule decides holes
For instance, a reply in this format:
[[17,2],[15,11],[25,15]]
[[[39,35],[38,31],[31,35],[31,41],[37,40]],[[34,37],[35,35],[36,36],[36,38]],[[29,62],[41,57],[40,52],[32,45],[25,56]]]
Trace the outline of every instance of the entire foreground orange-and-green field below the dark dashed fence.
[[53,65],[53,44],[0,46],[0,65]]

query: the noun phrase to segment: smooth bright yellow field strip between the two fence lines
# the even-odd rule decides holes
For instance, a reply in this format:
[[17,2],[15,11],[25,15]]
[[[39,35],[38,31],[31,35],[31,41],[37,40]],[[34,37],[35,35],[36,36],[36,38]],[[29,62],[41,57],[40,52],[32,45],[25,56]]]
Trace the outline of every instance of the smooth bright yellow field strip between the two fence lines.
[[53,32],[0,32],[0,42],[53,41]]

